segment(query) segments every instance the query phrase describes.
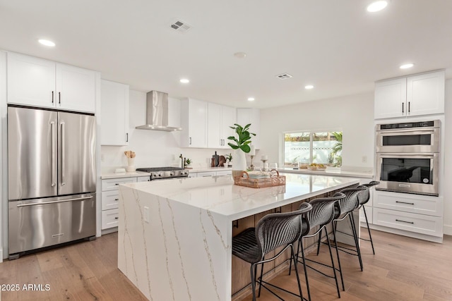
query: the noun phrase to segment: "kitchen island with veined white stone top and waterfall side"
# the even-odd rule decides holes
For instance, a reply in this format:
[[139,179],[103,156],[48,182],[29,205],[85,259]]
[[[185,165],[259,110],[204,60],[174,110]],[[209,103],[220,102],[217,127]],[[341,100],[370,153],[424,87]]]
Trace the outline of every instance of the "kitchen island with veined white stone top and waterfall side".
[[120,185],[118,267],[149,300],[231,300],[238,221],[357,183],[287,174],[270,188],[234,185],[232,176]]

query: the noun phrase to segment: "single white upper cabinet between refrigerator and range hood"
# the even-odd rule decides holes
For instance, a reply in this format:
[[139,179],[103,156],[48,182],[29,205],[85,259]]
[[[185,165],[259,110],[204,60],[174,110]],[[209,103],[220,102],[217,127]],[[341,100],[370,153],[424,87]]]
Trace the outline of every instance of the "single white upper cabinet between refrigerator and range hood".
[[101,145],[129,145],[129,85],[102,80]]

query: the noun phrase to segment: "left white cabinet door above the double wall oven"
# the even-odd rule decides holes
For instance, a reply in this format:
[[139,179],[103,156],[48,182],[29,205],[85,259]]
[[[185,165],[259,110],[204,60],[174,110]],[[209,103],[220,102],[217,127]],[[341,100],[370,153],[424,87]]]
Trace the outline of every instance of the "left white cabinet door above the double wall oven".
[[406,78],[376,82],[374,117],[378,119],[405,116],[408,109],[405,104],[406,98]]

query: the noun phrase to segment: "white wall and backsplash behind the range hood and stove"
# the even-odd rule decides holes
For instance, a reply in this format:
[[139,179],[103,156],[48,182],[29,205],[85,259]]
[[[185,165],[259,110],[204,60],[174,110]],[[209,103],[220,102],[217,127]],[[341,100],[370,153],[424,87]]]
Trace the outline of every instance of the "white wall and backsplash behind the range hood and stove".
[[[103,171],[112,171],[125,167],[127,159],[124,151],[136,152],[136,167],[180,166],[179,155],[191,159],[193,167],[206,167],[215,153],[229,154],[232,149],[189,149],[179,147],[179,132],[160,132],[156,130],[137,130],[135,127],[145,124],[146,94],[130,91],[129,99],[129,146],[101,147]],[[179,99],[169,97],[169,120],[172,126],[180,125]]]

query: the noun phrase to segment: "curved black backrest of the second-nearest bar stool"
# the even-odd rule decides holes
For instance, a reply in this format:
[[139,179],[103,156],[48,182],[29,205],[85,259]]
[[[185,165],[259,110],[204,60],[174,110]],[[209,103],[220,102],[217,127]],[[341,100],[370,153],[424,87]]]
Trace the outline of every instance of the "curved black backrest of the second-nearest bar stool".
[[312,199],[309,202],[312,206],[312,210],[305,214],[304,220],[307,223],[307,228],[303,230],[302,235],[307,235],[307,233],[316,226],[323,226],[331,223],[334,219],[334,204],[343,199],[345,199],[345,195],[341,192],[336,192],[333,197],[319,197],[317,199]]

